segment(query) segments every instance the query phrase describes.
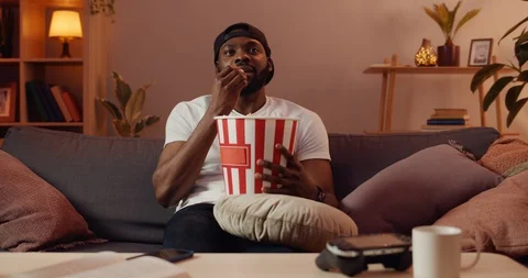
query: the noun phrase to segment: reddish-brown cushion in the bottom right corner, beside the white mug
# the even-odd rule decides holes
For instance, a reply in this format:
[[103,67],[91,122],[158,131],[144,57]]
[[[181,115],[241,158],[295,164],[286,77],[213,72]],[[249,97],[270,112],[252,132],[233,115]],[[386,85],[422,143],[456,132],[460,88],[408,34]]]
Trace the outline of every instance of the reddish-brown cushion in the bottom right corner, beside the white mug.
[[528,256],[528,171],[505,179],[454,208],[435,224],[462,230],[464,251]]

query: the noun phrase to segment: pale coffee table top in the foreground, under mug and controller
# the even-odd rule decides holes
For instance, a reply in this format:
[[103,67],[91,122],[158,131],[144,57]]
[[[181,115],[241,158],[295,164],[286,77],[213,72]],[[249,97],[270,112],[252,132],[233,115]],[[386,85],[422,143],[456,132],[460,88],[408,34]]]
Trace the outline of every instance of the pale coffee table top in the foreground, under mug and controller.
[[[65,260],[89,256],[82,253],[0,253],[0,276],[16,274]],[[122,254],[125,257],[138,254]],[[474,254],[462,254],[468,264]],[[317,254],[195,254],[195,257],[177,263],[193,278],[201,277],[345,277],[341,274],[321,271],[315,265]],[[356,277],[413,277],[406,273],[385,270],[381,265]],[[460,277],[519,278],[528,277],[528,268],[497,254],[482,254],[479,264]]]

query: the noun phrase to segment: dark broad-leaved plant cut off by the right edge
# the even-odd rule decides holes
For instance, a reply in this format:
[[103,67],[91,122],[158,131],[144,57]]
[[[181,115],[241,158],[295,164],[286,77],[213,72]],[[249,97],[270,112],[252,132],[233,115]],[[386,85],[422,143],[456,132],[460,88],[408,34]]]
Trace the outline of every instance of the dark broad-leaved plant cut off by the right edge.
[[[527,1],[527,0],[522,0]],[[528,22],[528,18],[525,18],[519,23],[512,26],[504,35],[501,37],[497,44],[501,44],[506,36],[512,34],[514,31],[522,26],[526,22]],[[509,65],[494,63],[481,68],[476,74],[473,76],[471,80],[471,91],[475,92],[476,89],[490,77],[498,74],[499,70],[503,68],[510,68],[515,75],[504,76],[497,79],[490,90],[486,92],[483,101],[484,111],[487,111],[490,105],[495,101],[498,97],[501,91],[503,91],[508,85],[510,85],[508,91],[506,92],[505,104],[506,109],[508,110],[508,116],[506,119],[506,126],[509,127],[512,122],[514,121],[515,116],[519,113],[520,109],[526,104],[528,98],[519,99],[520,92],[525,88],[525,85],[528,82],[528,69],[522,70],[522,66],[528,60],[528,32],[522,30],[520,34],[513,38],[514,44],[514,53],[517,62],[515,65],[513,62],[509,62]]]

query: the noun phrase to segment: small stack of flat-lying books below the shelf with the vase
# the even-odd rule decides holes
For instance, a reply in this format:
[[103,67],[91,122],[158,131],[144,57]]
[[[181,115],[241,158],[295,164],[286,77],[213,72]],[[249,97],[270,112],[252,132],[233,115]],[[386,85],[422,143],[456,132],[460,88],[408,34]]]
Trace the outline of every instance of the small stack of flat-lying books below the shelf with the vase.
[[435,113],[421,126],[422,131],[446,131],[470,127],[468,109],[436,108]]

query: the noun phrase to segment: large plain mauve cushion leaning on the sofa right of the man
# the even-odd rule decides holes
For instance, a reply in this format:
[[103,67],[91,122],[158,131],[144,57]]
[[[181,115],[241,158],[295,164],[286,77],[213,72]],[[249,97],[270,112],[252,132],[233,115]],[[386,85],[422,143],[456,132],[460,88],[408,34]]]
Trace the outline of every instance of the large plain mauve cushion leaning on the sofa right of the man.
[[430,225],[502,177],[451,145],[422,149],[385,169],[346,196],[340,208],[360,234],[403,233]]

